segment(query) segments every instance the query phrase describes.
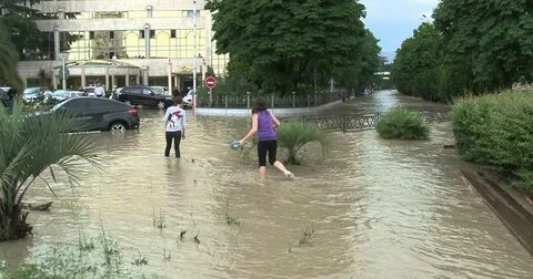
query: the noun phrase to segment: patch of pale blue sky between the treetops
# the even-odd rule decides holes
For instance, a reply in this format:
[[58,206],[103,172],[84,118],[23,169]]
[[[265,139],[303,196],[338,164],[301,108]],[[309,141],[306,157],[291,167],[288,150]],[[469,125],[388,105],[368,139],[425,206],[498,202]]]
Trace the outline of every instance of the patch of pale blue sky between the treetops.
[[392,59],[402,42],[432,14],[439,0],[361,0],[366,7],[366,28],[380,40],[382,54]]

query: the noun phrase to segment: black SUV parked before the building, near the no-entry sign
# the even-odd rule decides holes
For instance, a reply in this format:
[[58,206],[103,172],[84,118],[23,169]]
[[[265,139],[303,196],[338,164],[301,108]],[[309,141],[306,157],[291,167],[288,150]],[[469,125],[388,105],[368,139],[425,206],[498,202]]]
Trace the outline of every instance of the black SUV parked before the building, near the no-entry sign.
[[148,86],[125,86],[122,87],[119,101],[130,105],[157,106],[160,110],[172,105],[172,97],[158,94]]

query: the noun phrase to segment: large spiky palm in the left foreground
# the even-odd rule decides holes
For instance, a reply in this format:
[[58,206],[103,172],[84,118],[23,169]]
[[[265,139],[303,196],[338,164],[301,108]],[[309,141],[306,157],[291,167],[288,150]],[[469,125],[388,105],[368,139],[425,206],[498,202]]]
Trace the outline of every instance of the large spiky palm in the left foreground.
[[52,190],[44,172],[56,180],[53,169],[63,170],[77,183],[78,167],[98,165],[94,146],[87,137],[64,133],[74,127],[79,123],[66,113],[30,113],[21,101],[16,101],[10,112],[0,105],[0,241],[31,232],[21,205],[38,178]]

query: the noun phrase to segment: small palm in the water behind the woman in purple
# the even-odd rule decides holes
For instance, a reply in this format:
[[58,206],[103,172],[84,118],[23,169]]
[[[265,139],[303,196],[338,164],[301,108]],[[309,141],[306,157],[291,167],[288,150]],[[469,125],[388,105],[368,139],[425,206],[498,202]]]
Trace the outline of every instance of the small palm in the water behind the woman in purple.
[[319,127],[301,121],[286,122],[278,130],[278,141],[280,147],[286,155],[286,163],[291,165],[300,165],[298,158],[300,149],[308,143],[318,142],[325,151],[328,138],[324,131]]

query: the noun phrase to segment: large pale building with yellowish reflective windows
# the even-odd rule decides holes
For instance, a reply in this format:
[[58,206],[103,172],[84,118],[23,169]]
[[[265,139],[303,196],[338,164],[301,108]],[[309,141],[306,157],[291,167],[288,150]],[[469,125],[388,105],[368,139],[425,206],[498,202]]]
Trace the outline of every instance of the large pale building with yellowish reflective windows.
[[[68,87],[94,83],[199,87],[209,69],[223,74],[228,58],[214,53],[212,19],[204,0],[43,0],[34,8],[59,19],[38,20],[50,45],[19,63],[28,86],[46,80],[61,87],[66,59]],[[69,42],[70,41],[70,42]],[[195,55],[197,54],[197,55]]]

